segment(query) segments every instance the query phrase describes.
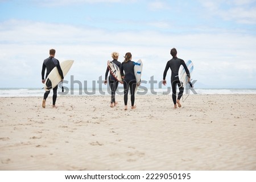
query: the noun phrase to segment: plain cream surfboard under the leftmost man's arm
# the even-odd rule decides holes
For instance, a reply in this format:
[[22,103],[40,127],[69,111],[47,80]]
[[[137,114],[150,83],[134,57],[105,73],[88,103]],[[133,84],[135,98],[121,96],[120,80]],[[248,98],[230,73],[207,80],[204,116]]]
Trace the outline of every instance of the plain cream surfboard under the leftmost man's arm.
[[[67,60],[60,62],[61,70],[63,71],[63,76],[67,75],[69,69],[73,65],[73,60]],[[61,81],[60,74],[57,70],[57,67],[53,68],[46,78],[46,82],[44,83],[44,90],[49,91],[52,88],[56,87],[57,84]]]

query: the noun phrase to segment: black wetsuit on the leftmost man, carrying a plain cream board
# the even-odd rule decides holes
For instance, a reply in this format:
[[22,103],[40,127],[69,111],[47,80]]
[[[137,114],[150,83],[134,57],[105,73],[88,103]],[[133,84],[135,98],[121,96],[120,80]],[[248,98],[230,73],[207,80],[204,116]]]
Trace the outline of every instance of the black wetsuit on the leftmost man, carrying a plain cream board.
[[[43,67],[42,67],[42,80],[44,80],[44,72],[45,70],[46,71],[46,78],[48,77],[49,73],[51,72],[51,70],[57,66],[57,70],[59,71],[59,74],[60,74],[60,77],[61,79],[64,79],[64,76],[63,76],[63,72],[61,70],[61,67],[60,67],[60,62],[59,60],[57,60],[56,58],[50,56],[48,57],[46,60],[44,60],[43,62]],[[52,96],[52,105],[55,105],[55,102],[56,102],[56,99],[57,99],[57,88],[58,86],[54,87],[53,88],[53,96]],[[46,91],[44,93],[44,100],[47,99],[48,95],[49,95],[49,92],[50,91]]]

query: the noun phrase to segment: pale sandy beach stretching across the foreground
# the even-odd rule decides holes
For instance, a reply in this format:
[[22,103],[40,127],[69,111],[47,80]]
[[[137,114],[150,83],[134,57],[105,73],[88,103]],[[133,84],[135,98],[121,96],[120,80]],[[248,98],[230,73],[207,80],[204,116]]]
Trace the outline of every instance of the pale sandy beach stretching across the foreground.
[[256,95],[0,100],[0,170],[256,170]]

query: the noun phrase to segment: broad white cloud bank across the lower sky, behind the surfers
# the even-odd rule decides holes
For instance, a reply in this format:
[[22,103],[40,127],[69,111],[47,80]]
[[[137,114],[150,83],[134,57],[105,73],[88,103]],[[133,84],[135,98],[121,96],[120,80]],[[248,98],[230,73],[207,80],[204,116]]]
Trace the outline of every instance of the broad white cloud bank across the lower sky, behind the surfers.
[[[108,29],[44,22],[9,20],[0,23],[0,82],[2,87],[41,87],[42,62],[48,50],[56,49],[60,61],[75,60],[69,74],[81,82],[104,77],[110,54],[117,51],[119,61],[126,52],[134,61],[144,62],[143,79],[160,81],[170,49],[192,60],[193,79],[205,85],[252,85],[256,79],[256,37],[237,32],[170,33],[158,31],[108,31]],[[49,28],[51,30],[49,31]],[[211,31],[209,31],[211,32]],[[170,72],[168,72],[168,77]],[[245,79],[250,78],[250,79]],[[103,78],[104,79],[104,78]]]

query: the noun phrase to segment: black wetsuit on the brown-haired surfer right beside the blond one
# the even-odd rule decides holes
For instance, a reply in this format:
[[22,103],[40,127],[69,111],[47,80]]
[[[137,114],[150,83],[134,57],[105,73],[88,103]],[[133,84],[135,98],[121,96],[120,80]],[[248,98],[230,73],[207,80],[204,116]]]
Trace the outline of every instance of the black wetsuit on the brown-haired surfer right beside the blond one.
[[[121,64],[121,76],[125,76],[123,79],[123,88],[124,88],[124,98],[123,100],[125,101],[125,105],[127,105],[127,100],[128,100],[128,92],[129,92],[129,87],[130,87],[130,93],[131,93],[131,106],[134,106],[135,102],[135,88],[136,88],[136,77],[134,74],[134,65],[135,62],[133,61],[127,61],[127,62],[122,62]],[[125,74],[123,73],[125,71]]]

